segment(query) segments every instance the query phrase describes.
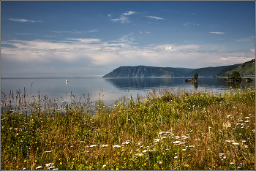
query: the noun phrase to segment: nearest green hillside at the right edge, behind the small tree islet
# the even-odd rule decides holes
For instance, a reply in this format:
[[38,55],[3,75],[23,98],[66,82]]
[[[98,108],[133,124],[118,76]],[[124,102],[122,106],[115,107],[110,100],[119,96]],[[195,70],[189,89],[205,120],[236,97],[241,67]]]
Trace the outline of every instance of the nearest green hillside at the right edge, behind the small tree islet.
[[240,72],[241,76],[255,75],[255,59],[243,64],[227,66],[225,69],[222,69],[222,71],[217,73],[217,77],[227,77],[228,74],[231,75],[234,71]]

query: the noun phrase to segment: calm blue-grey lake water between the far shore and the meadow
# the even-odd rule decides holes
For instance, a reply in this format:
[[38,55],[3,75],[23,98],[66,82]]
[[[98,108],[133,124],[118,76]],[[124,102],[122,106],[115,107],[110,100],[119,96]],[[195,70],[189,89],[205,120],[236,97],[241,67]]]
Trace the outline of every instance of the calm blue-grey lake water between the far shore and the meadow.
[[[81,100],[87,99],[88,94],[91,101],[103,99],[108,105],[113,104],[121,96],[131,96],[136,98],[137,93],[145,95],[151,88],[185,88],[193,90],[195,88],[207,91],[225,91],[229,90],[230,86],[234,87],[233,83],[222,81],[221,78],[200,77],[198,83],[186,83],[186,78],[101,78],[101,77],[86,77],[86,78],[69,78],[66,79],[1,79],[1,96],[13,91],[20,90],[28,96],[38,96],[39,93],[43,96],[47,95],[49,99],[59,99],[59,102],[66,100],[71,101],[70,95],[82,97]],[[242,80],[238,84],[238,88],[255,88],[255,78],[251,83],[244,83]],[[8,99],[8,98],[7,98]]]

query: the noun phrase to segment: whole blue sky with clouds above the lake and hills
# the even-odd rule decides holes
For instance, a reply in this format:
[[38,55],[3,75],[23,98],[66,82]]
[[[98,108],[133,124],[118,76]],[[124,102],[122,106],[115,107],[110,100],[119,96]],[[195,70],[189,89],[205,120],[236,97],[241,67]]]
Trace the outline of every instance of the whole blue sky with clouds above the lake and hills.
[[255,1],[1,1],[1,77],[255,58]]

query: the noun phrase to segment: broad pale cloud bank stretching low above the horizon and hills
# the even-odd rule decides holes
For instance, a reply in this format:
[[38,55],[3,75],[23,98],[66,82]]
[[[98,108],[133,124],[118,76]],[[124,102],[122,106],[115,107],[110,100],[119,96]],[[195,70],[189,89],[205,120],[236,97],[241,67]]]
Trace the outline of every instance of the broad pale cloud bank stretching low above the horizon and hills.
[[[117,41],[103,39],[9,40],[1,42],[2,75],[105,75],[105,67],[148,65],[199,68],[243,63],[255,51],[206,50],[212,45],[132,45],[132,33]],[[99,71],[99,67],[101,68]],[[33,72],[34,71],[34,72]],[[83,72],[83,73],[82,73]],[[97,73],[97,74],[96,74]]]

